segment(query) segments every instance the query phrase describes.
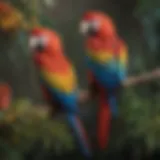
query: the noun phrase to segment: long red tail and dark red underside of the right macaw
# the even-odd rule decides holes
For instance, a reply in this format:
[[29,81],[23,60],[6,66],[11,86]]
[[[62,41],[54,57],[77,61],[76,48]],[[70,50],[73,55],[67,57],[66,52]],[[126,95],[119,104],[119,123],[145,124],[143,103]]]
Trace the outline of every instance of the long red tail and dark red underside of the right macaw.
[[100,149],[104,149],[108,145],[110,136],[111,112],[107,102],[107,95],[99,83],[94,78],[91,71],[88,71],[88,80],[91,93],[93,96],[98,95],[99,113],[97,126],[97,141]]

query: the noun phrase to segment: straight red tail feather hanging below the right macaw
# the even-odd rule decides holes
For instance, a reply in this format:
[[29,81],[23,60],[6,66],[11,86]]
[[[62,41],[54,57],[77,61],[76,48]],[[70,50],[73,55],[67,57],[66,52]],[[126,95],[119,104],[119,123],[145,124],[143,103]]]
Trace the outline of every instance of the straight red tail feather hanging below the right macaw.
[[104,96],[100,96],[99,102],[97,137],[99,148],[103,150],[109,141],[111,113],[109,103]]

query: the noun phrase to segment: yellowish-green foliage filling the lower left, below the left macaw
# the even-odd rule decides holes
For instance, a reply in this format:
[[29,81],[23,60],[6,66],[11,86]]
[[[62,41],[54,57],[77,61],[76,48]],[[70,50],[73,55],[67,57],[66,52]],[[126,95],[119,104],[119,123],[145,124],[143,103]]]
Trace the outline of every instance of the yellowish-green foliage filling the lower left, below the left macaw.
[[10,152],[27,153],[38,141],[42,142],[44,151],[52,149],[64,152],[73,149],[72,137],[66,124],[51,120],[45,107],[20,99],[8,110],[1,112],[0,148],[3,148],[5,156],[10,155]]

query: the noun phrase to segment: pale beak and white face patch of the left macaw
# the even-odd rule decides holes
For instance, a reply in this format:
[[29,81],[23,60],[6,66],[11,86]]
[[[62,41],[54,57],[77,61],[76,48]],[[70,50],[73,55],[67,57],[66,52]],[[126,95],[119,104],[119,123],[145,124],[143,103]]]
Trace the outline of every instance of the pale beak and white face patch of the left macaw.
[[47,37],[32,36],[29,40],[29,48],[31,50],[42,51],[47,45]]

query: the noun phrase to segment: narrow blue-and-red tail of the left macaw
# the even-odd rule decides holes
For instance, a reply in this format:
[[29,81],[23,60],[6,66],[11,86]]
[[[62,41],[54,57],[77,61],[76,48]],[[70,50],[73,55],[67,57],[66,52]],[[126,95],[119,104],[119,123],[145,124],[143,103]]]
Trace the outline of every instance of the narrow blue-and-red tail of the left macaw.
[[86,136],[86,132],[81,124],[80,119],[75,114],[68,114],[67,116],[82,153],[86,157],[91,157],[91,150],[88,143],[88,138]]

